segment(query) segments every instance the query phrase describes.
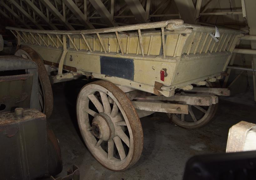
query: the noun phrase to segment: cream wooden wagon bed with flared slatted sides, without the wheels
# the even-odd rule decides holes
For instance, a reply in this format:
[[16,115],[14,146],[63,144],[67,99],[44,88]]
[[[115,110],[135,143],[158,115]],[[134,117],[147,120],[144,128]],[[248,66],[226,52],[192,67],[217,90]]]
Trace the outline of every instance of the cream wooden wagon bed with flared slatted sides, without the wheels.
[[[182,20],[81,31],[7,29],[19,45],[33,48],[45,64],[58,67],[58,79],[83,74],[166,97],[177,88],[219,78],[243,36],[219,28],[216,42],[210,36],[214,27]],[[70,73],[62,74],[62,68]]]

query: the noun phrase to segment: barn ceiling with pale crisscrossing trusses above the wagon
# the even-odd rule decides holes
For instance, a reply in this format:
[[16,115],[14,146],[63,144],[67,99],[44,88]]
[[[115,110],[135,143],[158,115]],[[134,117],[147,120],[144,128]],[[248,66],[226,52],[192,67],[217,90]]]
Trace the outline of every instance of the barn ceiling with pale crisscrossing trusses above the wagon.
[[80,30],[183,19],[247,28],[243,0],[0,0],[0,25]]

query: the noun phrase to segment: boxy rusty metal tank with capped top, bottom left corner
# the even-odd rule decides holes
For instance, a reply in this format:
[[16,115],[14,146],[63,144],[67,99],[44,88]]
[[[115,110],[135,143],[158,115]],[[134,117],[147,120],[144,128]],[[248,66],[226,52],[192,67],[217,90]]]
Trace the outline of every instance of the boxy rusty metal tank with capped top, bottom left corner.
[[[16,108],[0,114],[1,179],[29,180],[62,170],[59,149],[49,135],[46,116],[37,109]],[[55,138],[56,139],[56,138]]]

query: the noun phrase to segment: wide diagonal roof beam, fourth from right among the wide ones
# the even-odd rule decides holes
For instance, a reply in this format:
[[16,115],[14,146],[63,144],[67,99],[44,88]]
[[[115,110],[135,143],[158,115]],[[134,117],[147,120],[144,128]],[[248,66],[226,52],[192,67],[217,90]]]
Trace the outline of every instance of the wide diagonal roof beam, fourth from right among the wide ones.
[[72,0],[63,0],[63,2],[86,28],[94,29],[94,26],[86,21],[83,12],[77,7],[77,5]]

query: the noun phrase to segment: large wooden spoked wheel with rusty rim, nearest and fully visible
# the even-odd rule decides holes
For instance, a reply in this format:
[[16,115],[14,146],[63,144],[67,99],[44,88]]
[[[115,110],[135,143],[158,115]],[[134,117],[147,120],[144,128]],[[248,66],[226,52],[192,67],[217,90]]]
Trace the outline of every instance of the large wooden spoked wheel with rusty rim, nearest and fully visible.
[[85,85],[78,95],[77,118],[88,150],[104,167],[122,171],[138,161],[143,149],[141,123],[117,86],[107,81]]

